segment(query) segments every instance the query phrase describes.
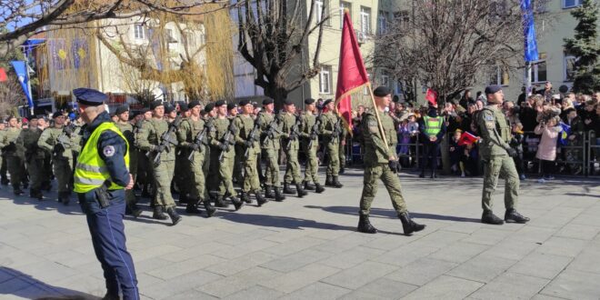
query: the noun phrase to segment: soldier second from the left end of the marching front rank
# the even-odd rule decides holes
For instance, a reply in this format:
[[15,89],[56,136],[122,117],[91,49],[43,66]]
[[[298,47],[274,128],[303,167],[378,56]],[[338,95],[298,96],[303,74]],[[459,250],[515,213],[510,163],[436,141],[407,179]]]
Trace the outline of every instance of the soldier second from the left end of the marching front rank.
[[210,205],[210,200],[207,196],[205,172],[203,169],[209,127],[200,118],[200,103],[198,101],[190,102],[187,105],[187,109],[190,112],[190,116],[182,121],[177,130],[177,140],[182,149],[182,156],[185,158],[185,162],[182,162],[182,165],[185,165],[185,172],[189,172],[190,175],[189,185],[185,187],[185,193],[189,194],[187,195],[185,212],[188,214],[199,214],[200,211],[196,205],[202,203],[205,205],[206,215],[211,217],[215,215],[215,207]]

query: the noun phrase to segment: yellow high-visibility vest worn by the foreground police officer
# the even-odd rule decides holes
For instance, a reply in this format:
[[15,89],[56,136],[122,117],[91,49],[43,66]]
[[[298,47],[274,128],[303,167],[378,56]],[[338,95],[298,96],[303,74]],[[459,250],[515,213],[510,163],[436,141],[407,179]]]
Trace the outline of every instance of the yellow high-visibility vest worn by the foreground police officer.
[[[112,130],[115,134],[121,136],[125,141],[125,166],[129,170],[129,144],[127,139],[121,133],[119,128],[112,122],[105,122],[95,128],[90,135],[84,148],[77,157],[77,165],[75,165],[74,175],[74,191],[75,193],[87,193],[97,187],[105,184],[105,181],[110,178],[105,161],[98,153],[98,139],[105,130]],[[112,183],[108,186],[109,190],[123,189],[125,186]]]

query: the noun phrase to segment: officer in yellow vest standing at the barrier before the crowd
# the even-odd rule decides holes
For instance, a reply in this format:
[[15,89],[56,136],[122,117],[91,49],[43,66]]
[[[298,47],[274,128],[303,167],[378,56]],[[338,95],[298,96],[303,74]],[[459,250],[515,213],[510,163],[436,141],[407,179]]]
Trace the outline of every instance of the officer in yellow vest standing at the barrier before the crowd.
[[421,139],[423,140],[423,154],[421,155],[421,174],[419,177],[425,177],[427,162],[431,165],[431,178],[437,177],[437,154],[440,152],[440,143],[445,135],[444,117],[437,115],[437,105],[429,104],[427,115],[419,122],[421,128]]

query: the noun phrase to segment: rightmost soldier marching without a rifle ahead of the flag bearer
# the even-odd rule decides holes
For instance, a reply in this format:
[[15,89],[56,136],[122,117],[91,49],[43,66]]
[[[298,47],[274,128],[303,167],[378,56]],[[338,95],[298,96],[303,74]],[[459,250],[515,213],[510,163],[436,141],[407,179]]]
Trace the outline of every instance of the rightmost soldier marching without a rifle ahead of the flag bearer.
[[[482,207],[484,214],[481,222],[492,225],[507,223],[526,223],[529,221],[515,210],[519,197],[519,175],[516,172],[515,162],[512,157],[517,155],[516,150],[509,145],[511,128],[502,112],[505,95],[500,85],[485,87],[487,106],[479,114],[477,124],[481,131],[481,158],[484,166],[484,192]],[[492,212],[492,194],[498,183],[498,176],[505,178],[505,220]]]

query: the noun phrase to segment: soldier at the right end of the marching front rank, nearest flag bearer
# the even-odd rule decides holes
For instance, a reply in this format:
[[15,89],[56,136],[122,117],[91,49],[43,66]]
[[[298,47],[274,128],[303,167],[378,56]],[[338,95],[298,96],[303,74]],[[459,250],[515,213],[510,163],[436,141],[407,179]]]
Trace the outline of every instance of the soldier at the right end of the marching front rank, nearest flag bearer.
[[327,108],[327,112],[323,114],[323,144],[325,145],[325,151],[329,158],[325,186],[340,188],[344,186],[337,179],[340,170],[339,144],[342,124],[339,116],[334,113],[335,104],[331,99],[325,100],[323,107]]

